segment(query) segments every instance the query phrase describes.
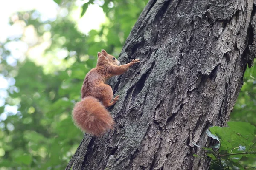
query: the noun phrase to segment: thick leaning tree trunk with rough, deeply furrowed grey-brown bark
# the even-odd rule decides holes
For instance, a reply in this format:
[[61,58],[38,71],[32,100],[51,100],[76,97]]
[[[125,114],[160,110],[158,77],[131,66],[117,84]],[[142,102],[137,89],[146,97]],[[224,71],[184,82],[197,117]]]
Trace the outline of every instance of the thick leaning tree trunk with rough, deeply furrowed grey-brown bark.
[[193,143],[209,146],[205,131],[229,119],[256,54],[255,11],[254,0],[150,0],[119,57],[142,63],[110,81],[115,129],[85,135],[66,169],[207,170]]

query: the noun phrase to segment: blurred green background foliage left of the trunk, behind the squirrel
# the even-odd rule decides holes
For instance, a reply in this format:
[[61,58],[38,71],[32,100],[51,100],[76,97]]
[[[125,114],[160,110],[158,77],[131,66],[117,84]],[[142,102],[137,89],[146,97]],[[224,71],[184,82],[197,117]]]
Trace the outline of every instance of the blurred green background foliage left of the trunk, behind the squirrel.
[[[60,10],[68,10],[67,16],[57,15],[55,20],[41,21],[38,11],[26,11],[14,14],[18,20],[10,21],[11,25],[22,21],[26,28],[35,29],[37,41],[26,42],[29,50],[48,43],[43,52],[43,57],[49,58],[47,63],[38,64],[40,58],[25,57],[23,61],[17,60],[17,64],[8,64],[8,57],[12,55],[6,48],[8,43],[23,42],[24,35],[0,44],[0,76],[11,82],[6,91],[0,90],[0,98],[5,101],[0,107],[0,170],[63,170],[66,167],[83,138],[70,113],[74,103],[80,100],[84,76],[95,67],[96,54],[101,49],[115,56],[120,53],[147,3],[147,0],[101,0],[100,3],[89,0],[79,7],[75,1],[54,1]],[[107,21],[99,30],[83,34],[71,15],[81,8],[84,14],[89,4],[99,4]],[[52,63],[58,51],[67,51],[67,56],[56,68]],[[12,106],[18,107],[17,113],[6,109]]]

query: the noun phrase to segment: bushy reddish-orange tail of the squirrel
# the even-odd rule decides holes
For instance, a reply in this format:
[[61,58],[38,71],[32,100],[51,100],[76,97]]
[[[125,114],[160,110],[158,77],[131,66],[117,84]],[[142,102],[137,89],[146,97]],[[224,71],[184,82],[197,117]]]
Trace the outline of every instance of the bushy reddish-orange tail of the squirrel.
[[112,129],[114,120],[108,110],[94,97],[84,97],[77,102],[72,112],[73,120],[81,130],[100,136]]

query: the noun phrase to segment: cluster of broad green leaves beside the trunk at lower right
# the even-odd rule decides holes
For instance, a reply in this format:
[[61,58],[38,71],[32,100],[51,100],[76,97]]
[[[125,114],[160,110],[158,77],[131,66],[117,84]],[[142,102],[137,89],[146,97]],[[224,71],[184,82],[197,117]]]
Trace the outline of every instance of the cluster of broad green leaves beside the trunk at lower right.
[[227,124],[228,127],[214,126],[207,130],[216,144],[202,147],[206,153],[202,158],[212,160],[211,170],[255,170],[256,127],[248,122],[229,121]]

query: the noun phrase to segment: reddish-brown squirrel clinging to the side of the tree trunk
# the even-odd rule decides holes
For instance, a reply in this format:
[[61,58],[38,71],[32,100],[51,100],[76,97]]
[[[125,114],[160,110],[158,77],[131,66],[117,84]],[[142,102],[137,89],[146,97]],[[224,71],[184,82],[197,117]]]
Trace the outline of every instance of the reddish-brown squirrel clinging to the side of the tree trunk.
[[82,131],[101,136],[108,129],[113,129],[115,122],[106,108],[114,105],[119,100],[119,95],[113,98],[112,88],[105,83],[109,78],[123,74],[136,63],[140,63],[140,60],[134,59],[128,64],[120,65],[105,50],[98,52],[96,68],[85,76],[81,101],[75,104],[72,112],[73,121]]

